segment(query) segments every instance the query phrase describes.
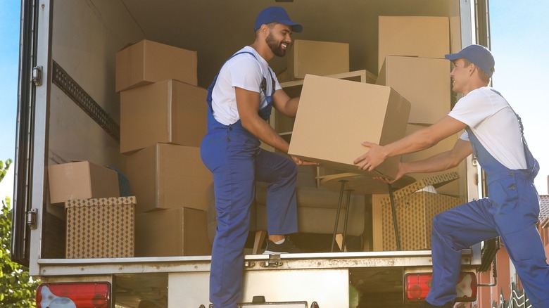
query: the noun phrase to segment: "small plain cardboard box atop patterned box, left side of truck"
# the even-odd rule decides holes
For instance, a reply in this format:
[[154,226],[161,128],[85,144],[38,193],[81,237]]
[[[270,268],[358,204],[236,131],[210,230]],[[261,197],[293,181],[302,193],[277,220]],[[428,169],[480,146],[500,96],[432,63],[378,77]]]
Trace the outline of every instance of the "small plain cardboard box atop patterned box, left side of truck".
[[65,205],[65,256],[133,257],[134,197],[118,173],[88,161],[48,166],[50,203]]

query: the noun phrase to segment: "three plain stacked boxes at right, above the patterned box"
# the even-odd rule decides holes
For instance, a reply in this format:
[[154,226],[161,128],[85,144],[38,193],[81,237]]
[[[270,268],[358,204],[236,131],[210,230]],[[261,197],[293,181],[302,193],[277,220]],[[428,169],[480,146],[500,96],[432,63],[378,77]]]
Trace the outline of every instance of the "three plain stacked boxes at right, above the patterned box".
[[[451,109],[450,22],[438,16],[379,16],[379,75],[377,84],[391,86],[412,105],[406,134],[434,124]],[[453,148],[457,135],[436,147],[410,155],[403,162],[422,160]],[[452,169],[450,171],[457,171]],[[438,173],[442,174],[442,173]],[[433,174],[410,174],[415,179]],[[457,181],[439,188],[459,195]]]

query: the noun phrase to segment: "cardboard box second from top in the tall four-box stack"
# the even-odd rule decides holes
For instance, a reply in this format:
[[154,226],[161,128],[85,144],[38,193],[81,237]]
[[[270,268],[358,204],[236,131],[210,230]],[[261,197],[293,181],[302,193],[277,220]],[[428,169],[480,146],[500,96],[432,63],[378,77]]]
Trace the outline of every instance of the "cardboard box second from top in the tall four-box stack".
[[208,91],[174,79],[120,94],[120,153],[175,143],[200,146],[206,135]]

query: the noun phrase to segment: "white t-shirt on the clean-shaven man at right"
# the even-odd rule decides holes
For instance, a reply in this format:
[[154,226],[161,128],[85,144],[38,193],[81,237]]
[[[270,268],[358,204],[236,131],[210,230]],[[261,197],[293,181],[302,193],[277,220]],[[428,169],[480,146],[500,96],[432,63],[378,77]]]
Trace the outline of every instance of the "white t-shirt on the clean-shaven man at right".
[[[509,169],[526,169],[517,115],[505,98],[483,86],[455,104],[450,117],[469,126],[493,158]],[[469,141],[467,131],[460,139]]]

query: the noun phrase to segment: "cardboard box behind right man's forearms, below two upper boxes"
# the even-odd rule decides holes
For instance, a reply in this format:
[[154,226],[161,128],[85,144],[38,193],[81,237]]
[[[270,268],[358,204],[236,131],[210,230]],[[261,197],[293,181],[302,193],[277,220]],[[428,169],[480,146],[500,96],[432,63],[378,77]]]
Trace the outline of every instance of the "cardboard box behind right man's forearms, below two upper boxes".
[[[412,134],[415,131],[418,131],[419,129],[422,129],[424,127],[427,127],[425,125],[418,125],[418,124],[408,124],[406,126],[406,136],[409,134]],[[419,152],[410,153],[402,155],[401,160],[403,162],[415,162],[417,160],[424,160],[426,158],[430,158],[433,155],[436,155],[438,153],[443,153],[448,150],[452,150],[452,148],[455,146],[455,143],[457,142],[457,139],[461,133],[455,134],[453,136],[450,136],[446,139],[441,140],[438,142],[435,146],[432,148],[427,148],[425,150],[420,150]],[[454,167],[445,171],[441,172],[431,172],[431,173],[410,173],[408,176],[417,179],[418,181],[421,179],[426,179],[428,177],[434,177],[436,175],[442,175],[446,174],[448,172],[458,172],[458,167]],[[459,173],[459,172],[458,172]],[[445,195],[460,195],[460,181],[450,181],[448,184],[439,186],[436,188],[436,191],[438,193],[442,193]]]

